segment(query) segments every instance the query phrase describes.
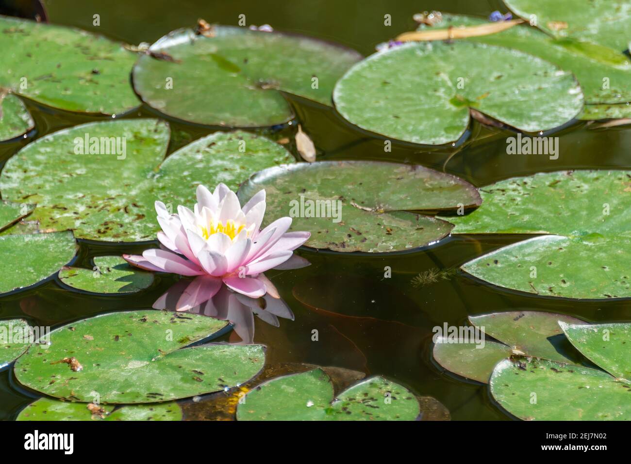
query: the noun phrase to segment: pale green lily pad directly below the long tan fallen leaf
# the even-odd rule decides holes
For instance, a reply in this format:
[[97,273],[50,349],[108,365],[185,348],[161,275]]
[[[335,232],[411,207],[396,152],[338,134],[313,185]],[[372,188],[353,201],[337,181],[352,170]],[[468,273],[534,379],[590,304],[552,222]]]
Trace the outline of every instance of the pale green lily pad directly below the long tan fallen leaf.
[[457,141],[469,108],[521,131],[546,131],[578,115],[574,76],[519,50],[473,42],[424,42],[378,52],[336,84],[345,119],[418,144]]

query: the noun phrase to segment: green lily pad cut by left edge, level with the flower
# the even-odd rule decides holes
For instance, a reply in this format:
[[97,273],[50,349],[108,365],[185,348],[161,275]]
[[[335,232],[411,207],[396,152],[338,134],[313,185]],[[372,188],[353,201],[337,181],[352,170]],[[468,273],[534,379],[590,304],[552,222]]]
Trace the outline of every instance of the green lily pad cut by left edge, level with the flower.
[[0,236],[3,278],[0,294],[43,281],[68,264],[76,253],[72,232]]

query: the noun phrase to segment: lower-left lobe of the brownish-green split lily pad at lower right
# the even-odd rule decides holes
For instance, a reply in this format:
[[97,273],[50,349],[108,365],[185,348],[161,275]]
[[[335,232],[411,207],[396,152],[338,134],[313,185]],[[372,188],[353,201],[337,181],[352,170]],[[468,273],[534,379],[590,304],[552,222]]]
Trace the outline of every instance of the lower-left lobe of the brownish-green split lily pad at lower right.
[[490,340],[478,345],[462,339],[454,343],[438,339],[432,351],[435,361],[447,371],[481,383],[488,383],[495,364],[511,354],[510,347]]

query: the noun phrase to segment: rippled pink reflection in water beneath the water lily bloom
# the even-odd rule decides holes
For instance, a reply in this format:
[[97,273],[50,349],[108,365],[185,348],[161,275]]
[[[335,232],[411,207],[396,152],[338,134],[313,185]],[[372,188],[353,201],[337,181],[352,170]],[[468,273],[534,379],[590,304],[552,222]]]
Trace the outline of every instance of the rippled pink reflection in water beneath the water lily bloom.
[[[170,311],[180,309],[177,302],[189,285],[191,282],[188,281],[177,282],[153,303],[153,308]],[[293,320],[292,310],[282,299],[273,298],[270,294],[261,298],[250,298],[233,292],[226,286],[221,286],[215,296],[191,308],[189,312],[230,321],[244,344],[254,342],[254,315],[274,327],[280,325],[279,317]]]

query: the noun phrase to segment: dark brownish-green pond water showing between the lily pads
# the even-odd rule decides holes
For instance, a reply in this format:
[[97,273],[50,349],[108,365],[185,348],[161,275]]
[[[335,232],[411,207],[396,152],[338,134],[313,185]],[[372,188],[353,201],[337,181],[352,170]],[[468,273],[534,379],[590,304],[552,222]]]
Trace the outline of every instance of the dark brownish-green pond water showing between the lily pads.
[[[198,18],[209,22],[236,24],[245,14],[247,23],[269,23],[277,30],[304,33],[372,53],[374,45],[398,33],[412,30],[413,13],[439,9],[452,13],[488,16],[501,9],[499,1],[240,1],[127,0],[107,2],[55,0],[47,2],[49,21],[73,25],[130,44],[153,42],[181,26],[194,25]],[[100,26],[92,16],[100,15]],[[392,25],[384,26],[384,15]],[[540,171],[572,168],[629,168],[631,130],[594,130],[577,122],[555,133],[559,156],[506,153],[509,131],[471,125],[471,137],[455,148],[423,148],[392,142],[384,153],[383,139],[351,127],[334,110],[291,98],[297,120],[309,128],[319,160],[389,160],[417,163],[462,177],[477,187],[497,180]],[[41,137],[88,118],[29,104]],[[126,116],[155,117],[143,108]],[[170,122],[169,152],[213,132],[210,129]],[[284,129],[291,133],[291,129]],[[27,142],[0,145],[0,163]],[[453,156],[452,156],[453,155]],[[445,163],[446,162],[446,163]],[[465,325],[468,315],[530,308],[565,313],[591,322],[627,321],[624,301],[570,301],[512,292],[484,284],[457,271],[471,258],[521,240],[517,236],[456,236],[415,252],[368,255],[367,253],[315,252],[298,254],[311,265],[304,269],[273,271],[268,277],[292,309],[295,320],[280,320],[280,327],[256,319],[254,341],[268,345],[268,362],[305,362],[339,366],[370,374],[382,374],[408,386],[417,395],[431,395],[442,402],[454,420],[509,419],[488,397],[485,385],[467,382],[444,373],[431,357],[432,328]],[[124,252],[141,252],[148,245],[107,245],[80,241],[76,265],[89,265],[90,258]],[[391,277],[384,277],[389,266]],[[447,271],[446,279],[413,284],[416,275],[430,270]],[[173,283],[158,278],[150,289],[131,296],[91,296],[64,289],[52,279],[0,299],[0,319],[25,317],[32,325],[57,326],[86,316],[113,310],[150,308]],[[312,341],[318,330],[319,340]],[[233,340],[224,335],[221,340]],[[0,419],[15,419],[37,395],[18,388],[10,370],[0,373]],[[188,417],[213,417],[208,402],[185,408]],[[206,410],[204,409],[206,408]]]

